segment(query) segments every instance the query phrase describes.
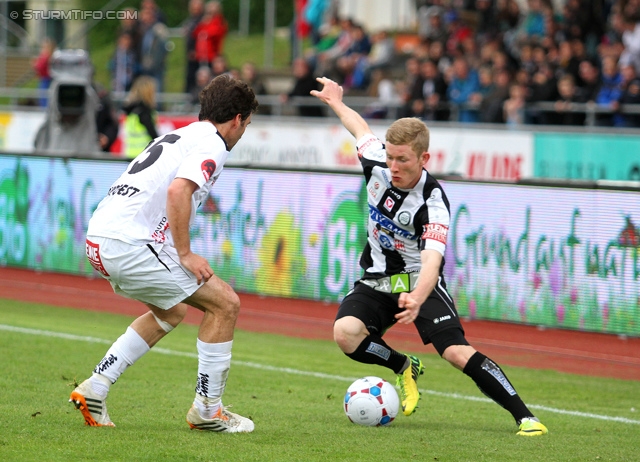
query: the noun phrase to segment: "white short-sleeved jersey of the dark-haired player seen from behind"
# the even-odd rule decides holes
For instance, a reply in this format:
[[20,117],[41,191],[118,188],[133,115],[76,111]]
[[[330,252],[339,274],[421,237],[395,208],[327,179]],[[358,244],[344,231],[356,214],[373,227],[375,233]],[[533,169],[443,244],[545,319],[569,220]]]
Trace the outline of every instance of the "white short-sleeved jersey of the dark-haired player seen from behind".
[[89,221],[87,235],[134,245],[173,245],[167,218],[169,185],[175,178],[198,185],[191,199],[192,224],[228,156],[227,145],[211,122],[194,122],[159,136],[109,188]]

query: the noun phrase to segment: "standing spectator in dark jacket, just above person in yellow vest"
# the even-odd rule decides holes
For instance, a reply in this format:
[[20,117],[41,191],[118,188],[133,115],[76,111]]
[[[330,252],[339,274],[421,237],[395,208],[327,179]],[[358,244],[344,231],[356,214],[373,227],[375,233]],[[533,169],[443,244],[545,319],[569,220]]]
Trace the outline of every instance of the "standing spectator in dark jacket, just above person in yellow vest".
[[158,21],[152,8],[140,10],[142,39],[140,42],[140,74],[156,81],[156,91],[164,91],[165,60],[167,57],[167,27]]

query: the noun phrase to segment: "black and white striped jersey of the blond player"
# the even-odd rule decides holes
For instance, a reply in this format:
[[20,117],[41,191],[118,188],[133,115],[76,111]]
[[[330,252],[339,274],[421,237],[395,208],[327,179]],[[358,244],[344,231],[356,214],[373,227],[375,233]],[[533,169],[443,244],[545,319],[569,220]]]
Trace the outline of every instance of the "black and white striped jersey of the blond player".
[[[367,188],[367,245],[360,257],[365,278],[420,271],[420,252],[444,256],[449,230],[449,200],[438,181],[422,171],[410,190],[394,187],[384,144],[372,134],[356,143]],[[444,259],[440,267],[442,268]]]

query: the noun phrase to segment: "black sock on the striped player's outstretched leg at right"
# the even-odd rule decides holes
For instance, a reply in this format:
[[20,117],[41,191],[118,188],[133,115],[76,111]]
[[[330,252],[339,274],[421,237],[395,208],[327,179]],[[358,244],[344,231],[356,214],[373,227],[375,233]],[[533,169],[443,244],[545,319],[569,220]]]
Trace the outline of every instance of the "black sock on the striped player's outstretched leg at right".
[[525,417],[533,417],[500,366],[482,353],[476,352],[469,358],[463,372],[473,379],[482,393],[509,411],[517,423]]

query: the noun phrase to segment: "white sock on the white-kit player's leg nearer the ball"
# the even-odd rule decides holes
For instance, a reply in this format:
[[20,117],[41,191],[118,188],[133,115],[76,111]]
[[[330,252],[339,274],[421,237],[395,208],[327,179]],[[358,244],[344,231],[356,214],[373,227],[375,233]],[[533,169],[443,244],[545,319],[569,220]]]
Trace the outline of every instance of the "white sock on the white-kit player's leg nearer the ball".
[[233,340],[223,343],[205,343],[198,339],[198,382],[193,404],[200,416],[211,419],[221,405],[231,367]]

